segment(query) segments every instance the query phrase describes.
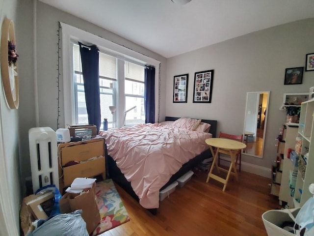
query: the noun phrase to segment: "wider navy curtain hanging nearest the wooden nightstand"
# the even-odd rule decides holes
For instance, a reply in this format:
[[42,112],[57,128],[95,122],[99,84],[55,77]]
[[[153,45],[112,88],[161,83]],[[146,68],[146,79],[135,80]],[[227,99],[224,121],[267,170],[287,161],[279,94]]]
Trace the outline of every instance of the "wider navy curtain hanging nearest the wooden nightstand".
[[78,44],[82,62],[88,124],[96,125],[98,134],[101,125],[98,68],[99,52],[95,45],[86,46],[80,42],[78,42]]

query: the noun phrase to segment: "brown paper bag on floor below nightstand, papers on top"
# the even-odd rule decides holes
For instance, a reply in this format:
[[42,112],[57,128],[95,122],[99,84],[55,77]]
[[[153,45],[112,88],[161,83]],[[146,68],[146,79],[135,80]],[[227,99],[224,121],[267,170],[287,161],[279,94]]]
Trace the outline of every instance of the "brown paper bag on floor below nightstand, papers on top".
[[65,193],[59,200],[61,213],[69,213],[74,210],[82,210],[82,218],[86,222],[86,229],[91,234],[101,218],[99,209],[95,200],[96,183],[92,188],[86,188],[82,193]]

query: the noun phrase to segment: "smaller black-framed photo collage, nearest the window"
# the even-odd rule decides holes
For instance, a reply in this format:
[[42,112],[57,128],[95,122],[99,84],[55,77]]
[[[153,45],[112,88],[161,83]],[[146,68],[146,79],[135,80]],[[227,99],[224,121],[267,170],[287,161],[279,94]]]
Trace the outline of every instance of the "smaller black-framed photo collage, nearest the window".
[[173,77],[173,102],[187,102],[188,74]]

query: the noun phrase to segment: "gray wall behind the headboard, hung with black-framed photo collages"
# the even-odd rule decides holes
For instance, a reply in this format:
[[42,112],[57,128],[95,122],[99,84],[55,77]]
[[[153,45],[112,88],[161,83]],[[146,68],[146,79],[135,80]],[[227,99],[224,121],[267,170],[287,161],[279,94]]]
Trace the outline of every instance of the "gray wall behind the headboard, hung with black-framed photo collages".
[[[314,52],[314,18],[250,33],[167,60],[167,116],[218,120],[219,131],[241,134],[246,92],[270,91],[263,159],[242,161],[270,168],[276,159],[275,139],[285,122],[283,94],[308,92],[314,72],[304,72],[301,85],[284,85],[285,68],[305,66]],[[214,69],[211,103],[192,103],[194,72]],[[172,103],[173,76],[189,73],[188,102]],[[270,175],[270,174],[269,174]]]

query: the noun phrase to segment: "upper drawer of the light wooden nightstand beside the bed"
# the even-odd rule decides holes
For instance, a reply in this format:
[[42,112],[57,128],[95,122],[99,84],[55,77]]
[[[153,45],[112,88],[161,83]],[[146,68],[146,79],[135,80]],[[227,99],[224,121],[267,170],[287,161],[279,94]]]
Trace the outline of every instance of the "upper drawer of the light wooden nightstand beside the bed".
[[105,156],[103,139],[94,142],[86,141],[74,146],[61,147],[62,166],[69,161],[84,161],[95,156]]

